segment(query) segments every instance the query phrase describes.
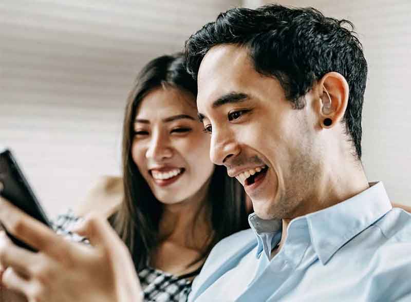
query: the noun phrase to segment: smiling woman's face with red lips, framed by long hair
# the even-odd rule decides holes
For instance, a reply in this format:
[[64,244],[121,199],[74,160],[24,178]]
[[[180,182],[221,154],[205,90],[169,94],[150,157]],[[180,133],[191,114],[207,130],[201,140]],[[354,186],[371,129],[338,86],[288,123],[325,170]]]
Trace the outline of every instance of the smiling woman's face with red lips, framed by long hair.
[[133,160],[161,203],[203,198],[197,195],[207,192],[214,165],[203,128],[194,96],[176,88],[151,91],[137,108]]

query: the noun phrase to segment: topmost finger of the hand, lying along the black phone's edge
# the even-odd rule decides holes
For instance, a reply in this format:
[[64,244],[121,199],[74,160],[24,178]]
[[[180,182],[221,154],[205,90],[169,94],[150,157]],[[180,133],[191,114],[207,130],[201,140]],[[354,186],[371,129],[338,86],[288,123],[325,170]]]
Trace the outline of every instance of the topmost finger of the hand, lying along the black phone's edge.
[[7,231],[36,250],[61,257],[66,241],[47,226],[32,218],[0,196],[0,221]]

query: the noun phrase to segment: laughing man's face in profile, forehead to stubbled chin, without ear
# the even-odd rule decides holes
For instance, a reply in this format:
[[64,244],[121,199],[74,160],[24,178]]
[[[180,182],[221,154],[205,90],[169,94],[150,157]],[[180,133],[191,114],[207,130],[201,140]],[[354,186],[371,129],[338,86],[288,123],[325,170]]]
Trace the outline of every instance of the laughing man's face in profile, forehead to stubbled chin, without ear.
[[246,48],[219,45],[201,62],[197,107],[211,132],[212,162],[244,186],[259,217],[306,212],[319,162],[310,106],[293,109],[278,80],[255,71]]

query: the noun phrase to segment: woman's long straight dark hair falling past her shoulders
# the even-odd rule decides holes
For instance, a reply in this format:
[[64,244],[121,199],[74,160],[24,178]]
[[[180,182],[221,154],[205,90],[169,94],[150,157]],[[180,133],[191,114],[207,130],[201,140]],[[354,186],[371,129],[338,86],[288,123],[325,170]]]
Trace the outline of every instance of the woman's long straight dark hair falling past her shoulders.
[[[153,195],[131,154],[136,108],[156,88],[170,86],[197,96],[197,83],[184,67],[182,53],[163,55],[150,61],[138,74],[125,109],[122,143],[124,200],[110,222],[133,256],[137,270],[147,265],[148,256],[158,245],[162,205]],[[213,232],[198,260],[207,257],[222,238],[248,227],[245,194],[223,166],[215,166],[211,176],[208,205]],[[194,234],[195,235],[195,234]]]

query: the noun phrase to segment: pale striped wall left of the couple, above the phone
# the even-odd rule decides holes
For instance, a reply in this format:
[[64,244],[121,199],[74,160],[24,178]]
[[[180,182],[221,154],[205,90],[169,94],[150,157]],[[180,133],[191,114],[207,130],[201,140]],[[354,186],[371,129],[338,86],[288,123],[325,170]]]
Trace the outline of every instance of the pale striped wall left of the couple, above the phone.
[[238,0],[3,0],[0,145],[11,147],[50,215],[120,173],[128,90],[149,59]]

